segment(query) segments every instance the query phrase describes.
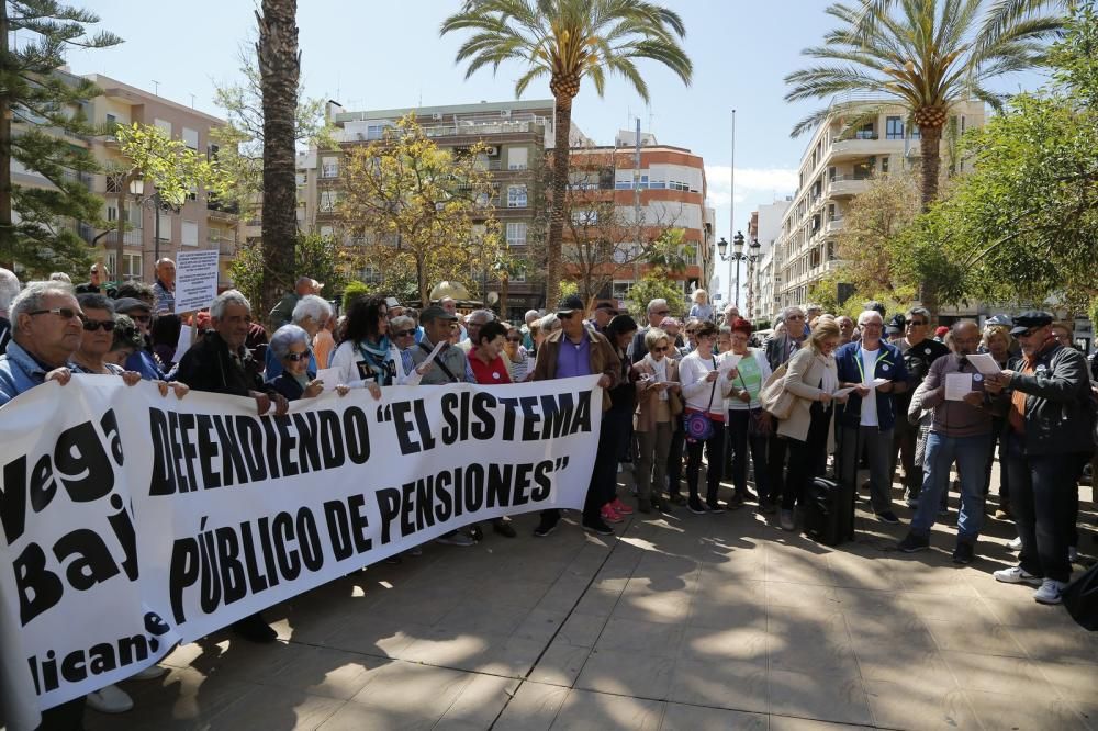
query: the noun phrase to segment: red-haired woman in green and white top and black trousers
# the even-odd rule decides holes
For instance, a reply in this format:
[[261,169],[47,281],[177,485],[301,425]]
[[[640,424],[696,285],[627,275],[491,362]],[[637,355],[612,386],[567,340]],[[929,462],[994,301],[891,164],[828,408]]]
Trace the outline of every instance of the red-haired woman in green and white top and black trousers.
[[[724,328],[721,328],[724,329]],[[770,495],[766,481],[766,441],[771,431],[770,414],[762,411],[759,393],[762,384],[770,378],[770,362],[766,351],[749,348],[753,328],[748,320],[737,317],[729,328],[729,351],[725,358],[735,358],[736,376],[732,380],[732,392],[725,400],[725,411],[728,412],[728,464],[736,492],[730,506],[739,507],[751,498],[748,491],[748,449],[751,450],[751,464],[754,466],[755,490],[759,495]]]

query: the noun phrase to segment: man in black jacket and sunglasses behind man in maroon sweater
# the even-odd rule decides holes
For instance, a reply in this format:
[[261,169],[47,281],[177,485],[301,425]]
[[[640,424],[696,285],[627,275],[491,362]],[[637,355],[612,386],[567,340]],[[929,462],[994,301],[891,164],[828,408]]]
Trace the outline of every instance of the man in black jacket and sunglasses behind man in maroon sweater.
[[907,311],[903,322],[904,337],[893,345],[899,348],[904,356],[904,366],[907,368],[907,391],[894,396],[896,413],[900,415],[900,418],[896,419],[896,430],[893,434],[889,474],[896,474],[898,457],[899,462],[904,465],[904,492],[907,497],[907,506],[915,508],[919,505],[919,494],[922,491],[922,465],[915,462],[915,447],[919,439],[919,427],[908,421],[904,415],[907,414],[908,406],[911,405],[911,395],[915,390],[930,373],[931,363],[943,356],[949,356],[950,349],[945,344],[929,337],[930,311],[926,307],[911,307]]

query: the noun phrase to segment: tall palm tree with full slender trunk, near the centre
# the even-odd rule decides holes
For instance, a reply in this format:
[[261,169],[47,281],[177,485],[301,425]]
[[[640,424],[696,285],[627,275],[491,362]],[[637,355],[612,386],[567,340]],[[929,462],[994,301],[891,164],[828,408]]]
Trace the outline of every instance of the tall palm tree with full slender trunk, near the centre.
[[643,0],[467,0],[446,19],[440,33],[471,31],[457,60],[469,61],[466,78],[484,66],[497,71],[506,60],[527,66],[515,95],[549,77],[554,104],[552,202],[546,261],[546,304],[553,306],[561,280],[564,194],[568,188],[572,100],[586,77],[603,95],[606,74],[628,79],[648,101],[648,85],[635,59],[650,58],[691,82],[693,65],[679,42],[686,29],[677,13]]

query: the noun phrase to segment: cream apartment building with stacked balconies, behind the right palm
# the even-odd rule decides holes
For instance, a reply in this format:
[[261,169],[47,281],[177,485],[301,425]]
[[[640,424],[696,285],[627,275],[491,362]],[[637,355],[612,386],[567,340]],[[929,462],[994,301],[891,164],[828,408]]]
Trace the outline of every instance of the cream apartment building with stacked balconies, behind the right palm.
[[[898,105],[872,99],[839,99],[832,113],[815,130],[800,160],[799,184],[782,221],[770,266],[774,295],[769,315],[804,304],[811,286],[833,270],[834,245],[843,217],[875,176],[919,165],[919,130]],[[964,102],[951,112],[959,134],[985,120],[982,102]],[[970,165],[954,154],[949,135],[942,139],[942,168],[961,172]]]

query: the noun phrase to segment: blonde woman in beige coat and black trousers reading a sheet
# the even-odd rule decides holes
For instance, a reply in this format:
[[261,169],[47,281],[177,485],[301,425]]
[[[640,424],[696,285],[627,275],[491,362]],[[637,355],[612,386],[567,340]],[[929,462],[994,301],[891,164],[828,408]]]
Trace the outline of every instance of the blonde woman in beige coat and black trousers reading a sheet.
[[777,426],[777,434],[789,442],[789,471],[782,490],[780,520],[783,530],[793,530],[793,509],[804,503],[808,485],[827,469],[827,456],[834,446],[834,402],[839,387],[834,349],[841,334],[833,320],[818,323],[808,336],[808,347],[789,359],[785,390],[793,394],[789,416]]

